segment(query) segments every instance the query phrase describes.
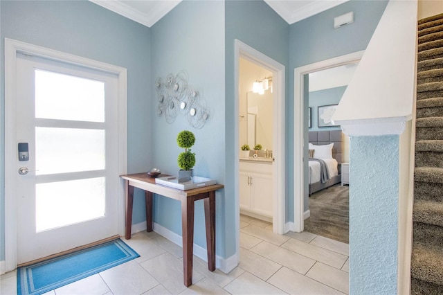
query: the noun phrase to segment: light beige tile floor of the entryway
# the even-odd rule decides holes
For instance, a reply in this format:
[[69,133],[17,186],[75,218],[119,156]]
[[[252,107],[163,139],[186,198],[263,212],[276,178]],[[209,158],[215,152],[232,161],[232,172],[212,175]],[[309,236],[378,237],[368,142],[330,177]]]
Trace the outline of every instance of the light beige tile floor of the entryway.
[[[314,235],[276,235],[272,224],[240,217],[240,263],[224,274],[194,258],[183,285],[181,247],[157,233],[125,240],[141,257],[47,294],[348,294],[349,246]],[[0,276],[0,294],[17,294],[15,271]]]

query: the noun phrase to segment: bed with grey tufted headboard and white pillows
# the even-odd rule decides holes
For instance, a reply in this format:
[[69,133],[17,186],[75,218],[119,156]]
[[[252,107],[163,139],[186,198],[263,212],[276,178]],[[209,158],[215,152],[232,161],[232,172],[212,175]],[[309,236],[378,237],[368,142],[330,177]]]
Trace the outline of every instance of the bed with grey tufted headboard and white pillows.
[[[314,154],[311,154],[311,156],[316,158],[315,154],[320,155],[320,157],[318,157],[320,160],[309,159],[309,195],[341,182],[341,138],[341,130],[309,132],[309,150],[316,151]],[[331,144],[332,149],[330,147]],[[332,159],[328,159],[329,157],[325,156],[325,154],[328,153],[327,150],[329,150],[329,154],[332,154]],[[325,169],[323,168],[323,170],[321,170],[320,166],[327,166],[329,175],[325,175]],[[320,173],[320,171],[323,172],[323,181],[321,177],[322,173]]]

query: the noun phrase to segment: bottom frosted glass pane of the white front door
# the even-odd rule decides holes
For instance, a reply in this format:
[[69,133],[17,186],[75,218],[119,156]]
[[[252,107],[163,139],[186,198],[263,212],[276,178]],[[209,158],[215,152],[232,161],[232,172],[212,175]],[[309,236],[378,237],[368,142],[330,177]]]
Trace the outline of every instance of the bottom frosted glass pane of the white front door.
[[55,229],[105,216],[105,177],[35,186],[36,228]]

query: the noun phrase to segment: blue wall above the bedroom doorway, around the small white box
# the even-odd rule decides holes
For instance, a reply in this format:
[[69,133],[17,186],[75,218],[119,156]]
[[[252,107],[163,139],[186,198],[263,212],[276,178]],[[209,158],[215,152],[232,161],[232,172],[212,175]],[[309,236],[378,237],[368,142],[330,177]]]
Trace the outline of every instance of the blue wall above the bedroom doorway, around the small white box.
[[[348,1],[335,8],[321,12],[296,24],[289,29],[289,96],[286,104],[286,145],[287,145],[287,179],[293,179],[293,114],[294,73],[293,69],[314,62],[328,60],[332,57],[361,51],[368,46],[380,17],[388,1]],[[334,29],[334,17],[354,11],[354,23]],[[305,105],[308,97],[305,96]],[[305,110],[307,114],[307,110]],[[307,129],[305,129],[305,146],[307,146]],[[301,144],[301,143],[300,143]],[[307,149],[305,158],[307,158]],[[307,163],[305,163],[305,178]],[[305,184],[305,211],[308,204],[308,184]],[[287,193],[287,222],[293,220],[293,183],[289,181]]]

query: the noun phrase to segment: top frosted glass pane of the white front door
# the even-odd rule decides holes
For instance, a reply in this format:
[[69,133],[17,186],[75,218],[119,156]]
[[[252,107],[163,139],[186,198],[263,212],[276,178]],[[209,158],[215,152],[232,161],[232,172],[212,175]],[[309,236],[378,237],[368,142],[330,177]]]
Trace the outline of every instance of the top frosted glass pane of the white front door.
[[105,83],[35,70],[35,118],[105,121]]

